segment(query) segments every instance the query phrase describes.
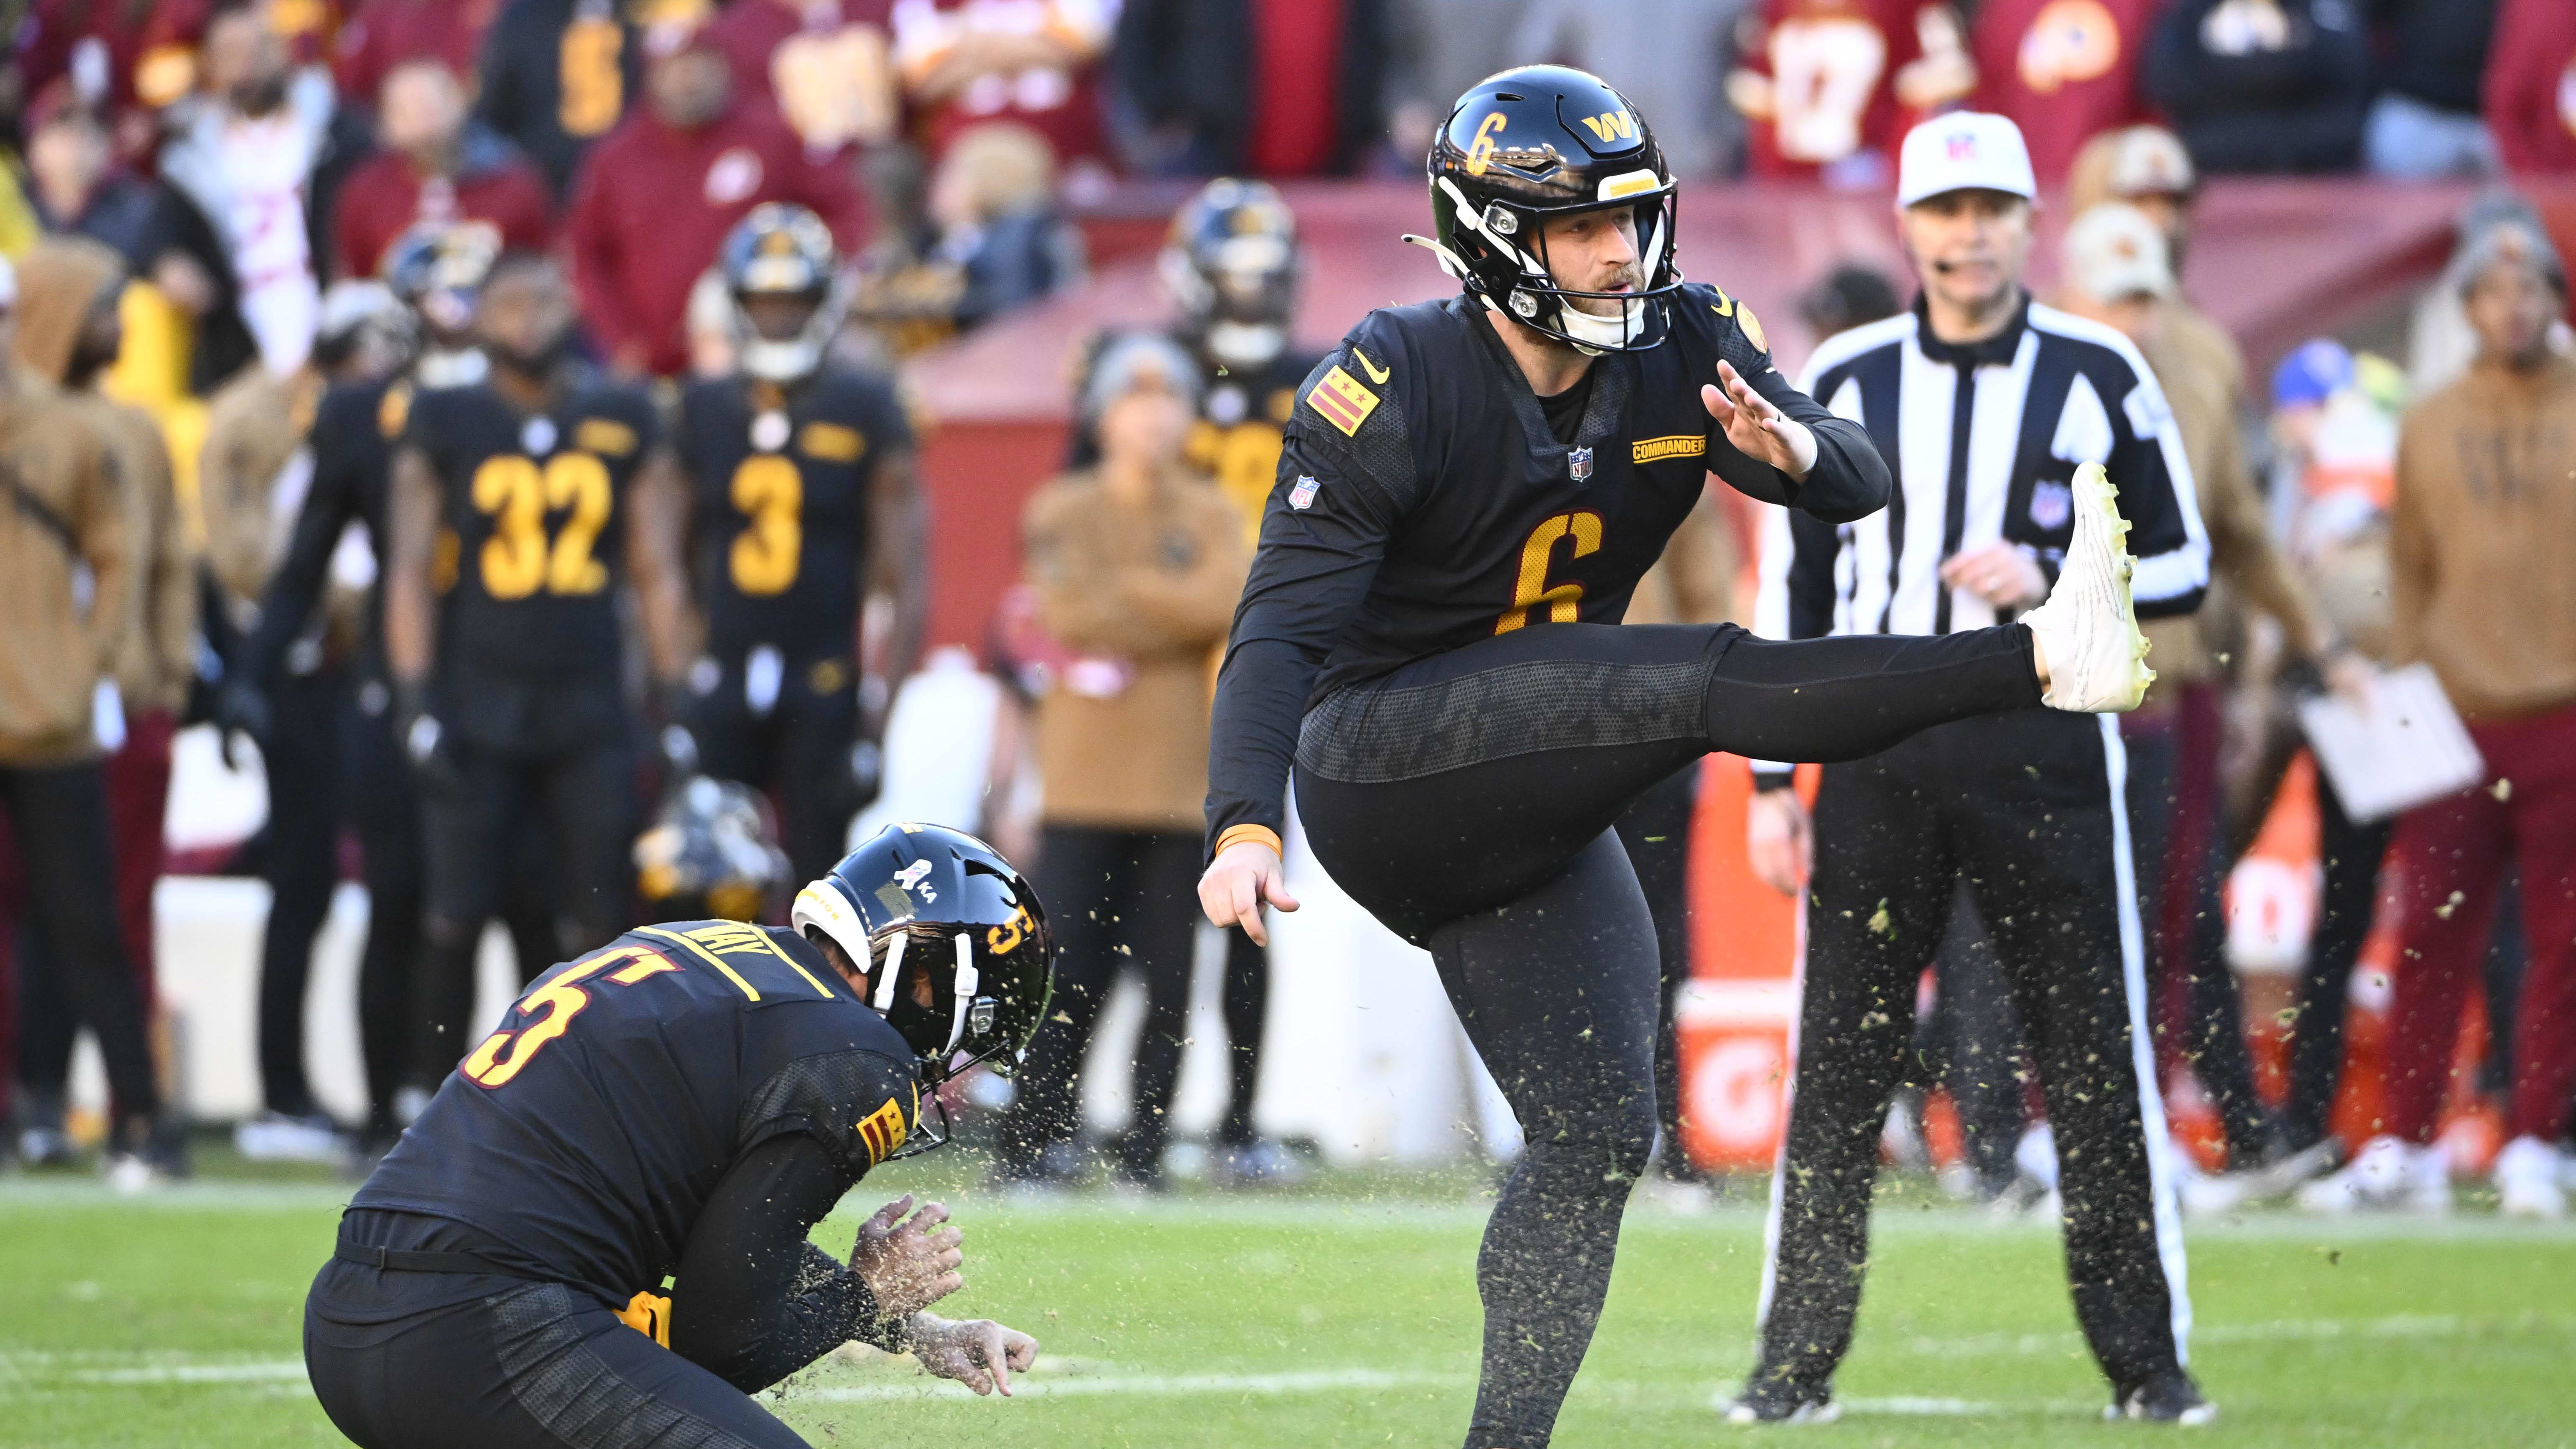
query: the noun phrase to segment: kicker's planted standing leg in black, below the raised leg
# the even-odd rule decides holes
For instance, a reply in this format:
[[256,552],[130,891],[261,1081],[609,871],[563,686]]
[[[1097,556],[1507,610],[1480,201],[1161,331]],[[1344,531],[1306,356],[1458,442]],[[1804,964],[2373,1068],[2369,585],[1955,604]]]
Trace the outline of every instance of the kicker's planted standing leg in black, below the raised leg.
[[1476,1256],[1484,1374],[1466,1444],[1535,1449],[1592,1343],[1654,1147],[1654,920],[1605,833],[1530,897],[1440,928],[1432,962],[1528,1142]]

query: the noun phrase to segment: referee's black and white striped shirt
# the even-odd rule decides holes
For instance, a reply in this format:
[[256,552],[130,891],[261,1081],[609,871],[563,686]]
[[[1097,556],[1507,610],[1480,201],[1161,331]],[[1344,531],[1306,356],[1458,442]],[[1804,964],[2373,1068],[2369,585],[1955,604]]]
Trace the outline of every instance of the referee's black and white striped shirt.
[[1947,345],[1914,312],[1826,338],[1801,384],[1860,423],[1896,474],[1857,523],[1767,508],[1754,632],[1947,634],[2009,621],[1940,565],[1996,539],[2050,583],[2074,536],[2079,464],[2120,490],[2138,616],[2190,614],[2210,578],[2192,464],[2156,374],[2120,333],[2025,304],[2009,327]]

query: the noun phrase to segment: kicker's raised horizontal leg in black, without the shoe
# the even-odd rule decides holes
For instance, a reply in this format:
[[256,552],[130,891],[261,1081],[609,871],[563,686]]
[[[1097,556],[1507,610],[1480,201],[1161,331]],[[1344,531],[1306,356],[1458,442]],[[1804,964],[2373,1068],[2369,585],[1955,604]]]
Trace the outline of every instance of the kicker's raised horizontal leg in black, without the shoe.
[[[1332,694],[1306,714],[1296,789],[1324,869],[1422,944],[1561,871],[1710,750],[1852,761],[2038,699],[2020,624],[1788,645],[1734,624],[1548,624]],[[1314,815],[1342,828],[1316,835]]]

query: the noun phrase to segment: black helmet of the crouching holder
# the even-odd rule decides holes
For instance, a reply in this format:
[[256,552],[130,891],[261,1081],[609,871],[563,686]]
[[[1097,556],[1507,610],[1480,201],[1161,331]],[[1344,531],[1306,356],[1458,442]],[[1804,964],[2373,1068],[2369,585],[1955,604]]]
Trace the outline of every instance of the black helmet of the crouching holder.
[[1056,938],[1038,892],[963,830],[886,825],[796,892],[788,923],[868,964],[868,1006],[927,1085],[976,1062],[1012,1075],[1046,1021]]

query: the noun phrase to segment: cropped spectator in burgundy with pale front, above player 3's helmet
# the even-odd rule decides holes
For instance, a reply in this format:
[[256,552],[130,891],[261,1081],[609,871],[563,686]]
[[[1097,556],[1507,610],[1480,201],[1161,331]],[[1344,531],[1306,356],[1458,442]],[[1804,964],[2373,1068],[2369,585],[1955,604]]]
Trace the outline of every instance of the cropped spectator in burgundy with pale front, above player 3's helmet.
[[770,101],[814,155],[894,134],[891,0],[734,0],[706,39],[734,62],[744,101]]

